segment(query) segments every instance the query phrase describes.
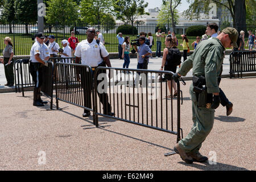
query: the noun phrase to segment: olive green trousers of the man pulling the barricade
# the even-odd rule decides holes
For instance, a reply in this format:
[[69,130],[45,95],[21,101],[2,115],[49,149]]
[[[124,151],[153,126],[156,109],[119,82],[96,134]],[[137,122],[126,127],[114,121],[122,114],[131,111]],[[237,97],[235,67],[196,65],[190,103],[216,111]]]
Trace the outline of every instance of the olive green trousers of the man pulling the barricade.
[[187,152],[198,152],[213,127],[214,109],[198,107],[193,84],[189,88],[192,100],[193,127],[187,137],[179,141],[179,146]]

